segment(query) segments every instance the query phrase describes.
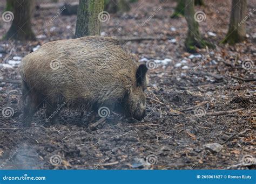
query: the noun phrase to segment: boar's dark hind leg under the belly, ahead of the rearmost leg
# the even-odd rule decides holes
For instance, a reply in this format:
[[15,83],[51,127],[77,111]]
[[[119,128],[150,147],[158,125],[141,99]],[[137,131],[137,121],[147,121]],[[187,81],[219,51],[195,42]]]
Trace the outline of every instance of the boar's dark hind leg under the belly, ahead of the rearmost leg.
[[46,103],[46,122],[56,123],[56,117],[58,116],[62,107],[57,105],[57,103]]

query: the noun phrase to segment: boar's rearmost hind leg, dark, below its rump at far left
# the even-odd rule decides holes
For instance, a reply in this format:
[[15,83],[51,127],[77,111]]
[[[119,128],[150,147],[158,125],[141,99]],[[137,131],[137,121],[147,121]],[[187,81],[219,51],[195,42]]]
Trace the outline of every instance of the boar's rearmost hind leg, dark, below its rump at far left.
[[26,102],[24,103],[22,118],[22,124],[24,126],[31,125],[33,115],[40,107],[42,107],[42,104],[43,103],[39,102],[39,99],[34,93],[29,93],[26,96]]

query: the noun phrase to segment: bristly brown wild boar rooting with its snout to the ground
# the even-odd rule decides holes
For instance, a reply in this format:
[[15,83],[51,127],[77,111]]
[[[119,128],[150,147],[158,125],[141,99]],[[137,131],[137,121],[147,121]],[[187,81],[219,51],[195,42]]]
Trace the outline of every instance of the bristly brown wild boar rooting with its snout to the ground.
[[147,67],[118,39],[89,36],[46,43],[25,56],[20,72],[24,125],[43,105],[51,121],[59,105],[94,112],[106,107],[126,117],[145,117]]

